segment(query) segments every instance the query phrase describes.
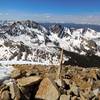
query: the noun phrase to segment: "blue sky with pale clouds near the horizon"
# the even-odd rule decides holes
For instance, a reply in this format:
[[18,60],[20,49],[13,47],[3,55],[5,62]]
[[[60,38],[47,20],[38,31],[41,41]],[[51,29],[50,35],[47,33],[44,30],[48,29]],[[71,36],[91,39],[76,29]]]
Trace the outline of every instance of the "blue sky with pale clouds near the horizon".
[[100,0],[0,0],[0,20],[100,24]]

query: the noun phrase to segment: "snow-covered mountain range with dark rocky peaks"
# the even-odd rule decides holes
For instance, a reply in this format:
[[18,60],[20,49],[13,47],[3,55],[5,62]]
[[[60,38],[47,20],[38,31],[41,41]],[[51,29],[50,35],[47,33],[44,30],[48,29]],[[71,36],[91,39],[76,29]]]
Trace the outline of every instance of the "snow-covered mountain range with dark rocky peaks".
[[[48,29],[34,21],[0,26],[0,60],[58,64],[60,49],[79,55],[100,56],[100,32],[52,25]],[[64,60],[70,57],[64,54]]]

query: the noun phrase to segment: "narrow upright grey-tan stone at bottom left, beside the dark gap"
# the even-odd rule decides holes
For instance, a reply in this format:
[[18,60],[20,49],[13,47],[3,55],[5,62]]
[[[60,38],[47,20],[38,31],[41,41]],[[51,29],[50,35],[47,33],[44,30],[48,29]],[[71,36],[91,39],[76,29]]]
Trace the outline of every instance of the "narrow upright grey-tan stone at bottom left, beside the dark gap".
[[9,85],[10,94],[12,99],[20,100],[21,95],[18,86],[15,83]]

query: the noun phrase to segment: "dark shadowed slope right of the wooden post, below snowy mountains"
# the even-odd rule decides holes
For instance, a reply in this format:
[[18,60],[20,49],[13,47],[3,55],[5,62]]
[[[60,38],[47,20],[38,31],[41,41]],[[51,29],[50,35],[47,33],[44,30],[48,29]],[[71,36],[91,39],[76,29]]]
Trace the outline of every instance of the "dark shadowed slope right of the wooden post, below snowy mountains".
[[100,67],[100,57],[95,55],[79,55],[73,52],[64,51],[64,54],[70,59],[64,62],[64,65],[82,66],[82,67]]

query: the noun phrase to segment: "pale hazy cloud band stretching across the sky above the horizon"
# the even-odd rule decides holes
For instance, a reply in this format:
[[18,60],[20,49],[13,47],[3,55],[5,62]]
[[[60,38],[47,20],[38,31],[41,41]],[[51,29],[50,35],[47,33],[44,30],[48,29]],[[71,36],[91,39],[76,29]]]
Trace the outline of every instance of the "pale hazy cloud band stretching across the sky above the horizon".
[[38,22],[57,22],[57,23],[79,23],[79,24],[99,24],[100,25],[100,14],[95,15],[54,15],[49,13],[44,14],[33,14],[33,13],[0,13],[0,19],[10,20],[24,20],[31,19]]

